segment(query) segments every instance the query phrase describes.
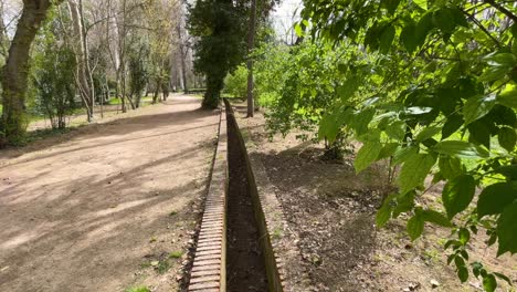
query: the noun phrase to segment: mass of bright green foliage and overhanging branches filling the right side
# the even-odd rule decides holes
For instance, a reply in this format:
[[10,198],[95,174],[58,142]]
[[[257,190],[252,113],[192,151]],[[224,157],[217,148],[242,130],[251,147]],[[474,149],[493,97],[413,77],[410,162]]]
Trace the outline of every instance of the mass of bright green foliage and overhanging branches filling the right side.
[[[284,72],[268,102],[270,118],[281,129],[319,125],[320,138],[354,132],[363,143],[357,171],[387,157],[401,164],[400,194],[386,200],[378,225],[412,213],[407,229],[413,240],[425,221],[452,227],[457,239],[447,246],[450,262],[461,281],[468,279],[465,247],[477,226],[487,230],[488,244],[497,242],[498,255],[517,252],[517,24],[510,28],[507,21],[517,17],[511,3],[305,0],[304,7],[295,29],[312,43],[291,49],[285,63],[270,63],[273,72]],[[415,207],[432,174],[433,184],[445,181],[447,217]],[[474,208],[476,188],[483,191]],[[481,263],[471,270],[487,291],[503,279]]]

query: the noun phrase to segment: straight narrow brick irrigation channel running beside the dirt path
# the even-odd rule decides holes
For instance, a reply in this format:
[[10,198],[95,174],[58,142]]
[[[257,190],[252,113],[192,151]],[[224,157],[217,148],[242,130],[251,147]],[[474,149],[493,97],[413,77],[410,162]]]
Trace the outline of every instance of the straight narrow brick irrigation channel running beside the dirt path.
[[261,165],[255,178],[234,112],[224,104],[188,291],[308,291],[289,282],[274,248],[271,230],[285,226],[279,204],[264,187]]

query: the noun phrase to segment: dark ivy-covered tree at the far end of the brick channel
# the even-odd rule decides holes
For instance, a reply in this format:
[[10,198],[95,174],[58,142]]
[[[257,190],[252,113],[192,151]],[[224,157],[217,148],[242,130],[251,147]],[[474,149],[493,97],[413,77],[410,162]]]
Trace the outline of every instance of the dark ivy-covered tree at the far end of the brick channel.
[[201,0],[189,7],[189,30],[194,43],[194,69],[207,76],[203,107],[215,108],[228,72],[245,55],[246,8],[241,2]]

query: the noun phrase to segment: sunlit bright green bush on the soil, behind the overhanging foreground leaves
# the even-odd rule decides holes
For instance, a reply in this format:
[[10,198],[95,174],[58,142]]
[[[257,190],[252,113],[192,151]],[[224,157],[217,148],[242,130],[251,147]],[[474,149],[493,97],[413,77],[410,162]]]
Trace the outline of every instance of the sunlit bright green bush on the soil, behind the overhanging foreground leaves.
[[[336,101],[356,90],[354,80],[341,83],[346,66],[340,62],[348,56],[345,53],[342,48],[318,42],[302,42],[293,48],[270,42],[255,51],[255,96],[267,108],[271,134],[286,135],[292,129],[315,133],[319,124],[325,124],[315,133],[326,140],[325,156],[333,159],[341,156],[349,131],[340,123],[356,115],[354,108],[334,108]],[[333,109],[341,111],[347,117],[331,115]],[[363,127],[372,116],[373,113],[371,116],[357,115],[357,127]],[[306,135],[299,137],[308,138]],[[360,154],[356,167],[377,158],[381,145],[371,146],[372,152]]]

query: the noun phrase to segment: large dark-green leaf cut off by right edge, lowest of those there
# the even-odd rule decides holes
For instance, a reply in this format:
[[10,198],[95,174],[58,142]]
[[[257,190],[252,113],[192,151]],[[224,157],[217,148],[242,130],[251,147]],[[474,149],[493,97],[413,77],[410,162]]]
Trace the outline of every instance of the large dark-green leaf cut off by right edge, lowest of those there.
[[506,206],[503,213],[497,219],[497,238],[499,248],[497,257],[509,251],[511,254],[517,252],[517,201]]

